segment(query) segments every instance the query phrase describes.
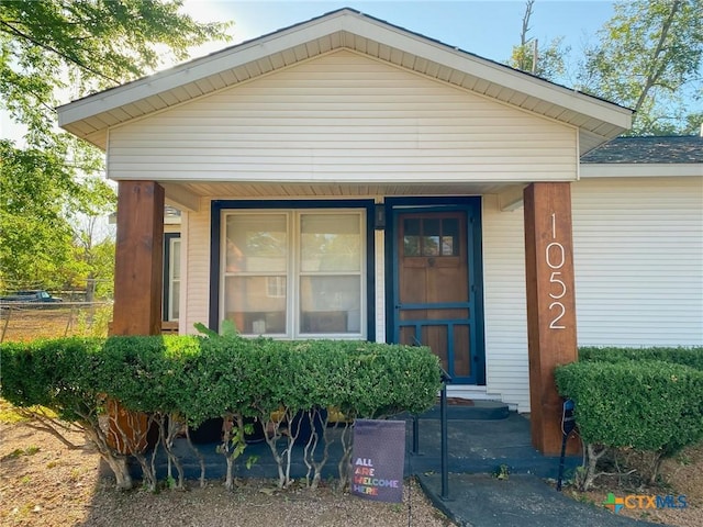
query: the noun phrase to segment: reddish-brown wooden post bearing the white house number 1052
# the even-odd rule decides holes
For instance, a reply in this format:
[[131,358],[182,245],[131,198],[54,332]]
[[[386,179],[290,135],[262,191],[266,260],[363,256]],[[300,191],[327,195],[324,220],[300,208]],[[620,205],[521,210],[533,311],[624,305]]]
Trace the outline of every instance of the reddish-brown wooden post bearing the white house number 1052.
[[[570,183],[532,183],[524,203],[532,441],[545,455],[559,455],[561,399],[554,370],[578,358]],[[571,442],[569,451],[578,451]]]

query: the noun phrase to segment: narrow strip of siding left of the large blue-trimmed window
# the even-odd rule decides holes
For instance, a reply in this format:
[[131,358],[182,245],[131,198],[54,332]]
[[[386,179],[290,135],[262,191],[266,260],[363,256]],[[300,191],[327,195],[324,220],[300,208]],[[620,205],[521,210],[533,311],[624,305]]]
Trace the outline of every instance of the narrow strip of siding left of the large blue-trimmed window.
[[[180,333],[198,333],[198,322],[208,326],[210,319],[210,200],[201,200],[199,212],[188,212],[186,222],[188,266],[186,300],[181,301]],[[183,325],[185,322],[185,325]]]

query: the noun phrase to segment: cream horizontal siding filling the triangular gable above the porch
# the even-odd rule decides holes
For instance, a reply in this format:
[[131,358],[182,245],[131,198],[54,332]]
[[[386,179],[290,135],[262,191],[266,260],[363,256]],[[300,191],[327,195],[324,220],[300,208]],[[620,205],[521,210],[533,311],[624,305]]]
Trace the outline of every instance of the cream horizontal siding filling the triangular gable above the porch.
[[110,131],[113,179],[574,180],[577,131],[343,51]]

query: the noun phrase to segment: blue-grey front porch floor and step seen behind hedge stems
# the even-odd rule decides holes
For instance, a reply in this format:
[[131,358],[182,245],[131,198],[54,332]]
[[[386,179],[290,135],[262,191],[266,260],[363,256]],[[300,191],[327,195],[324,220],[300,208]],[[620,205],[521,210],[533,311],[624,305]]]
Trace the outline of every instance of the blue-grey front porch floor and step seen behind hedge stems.
[[[442,470],[442,423],[438,405],[419,417],[419,435],[414,436],[413,419],[408,414],[400,414],[391,419],[405,421],[405,476],[435,474]],[[342,424],[332,425],[327,434],[333,442],[330,447],[330,460],[323,472],[326,478],[338,478],[337,462],[342,456],[339,436]],[[281,445],[287,439],[280,439]],[[447,444],[450,473],[491,474],[501,466],[505,466],[511,474],[533,474],[538,478],[556,479],[559,458],[544,456],[531,442],[529,418],[510,412],[507,405],[494,401],[466,401],[465,404],[447,405]],[[222,479],[226,463],[222,453],[216,451],[221,444],[196,444],[205,460],[208,480]],[[416,450],[415,450],[415,447]],[[308,468],[303,462],[304,445],[293,447],[291,478],[304,480]],[[319,450],[322,446],[317,447]],[[200,476],[200,463],[185,438],[176,440],[175,453],[181,459],[186,479],[197,480]],[[319,453],[320,456],[320,453]],[[256,462],[247,469],[246,461],[256,457]],[[580,456],[569,456],[567,466],[570,470],[580,463]],[[107,469],[107,468],[105,468]],[[140,469],[133,466],[134,476],[140,478]],[[157,455],[157,475],[163,480],[167,475],[167,460],[161,451]],[[105,475],[109,471],[105,472]],[[244,453],[237,459],[235,475],[238,478],[278,478],[277,466],[266,441],[260,440],[247,445]],[[451,489],[449,489],[451,492]]]

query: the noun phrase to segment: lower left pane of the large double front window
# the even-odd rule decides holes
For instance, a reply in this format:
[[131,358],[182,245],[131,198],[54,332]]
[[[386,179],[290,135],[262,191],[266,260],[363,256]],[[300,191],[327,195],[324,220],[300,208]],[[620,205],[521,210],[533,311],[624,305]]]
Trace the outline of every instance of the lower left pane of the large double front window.
[[239,333],[286,333],[286,277],[226,277],[224,293],[224,315]]

